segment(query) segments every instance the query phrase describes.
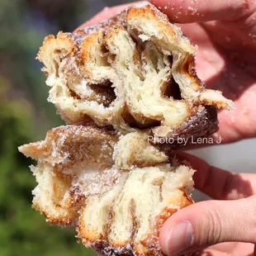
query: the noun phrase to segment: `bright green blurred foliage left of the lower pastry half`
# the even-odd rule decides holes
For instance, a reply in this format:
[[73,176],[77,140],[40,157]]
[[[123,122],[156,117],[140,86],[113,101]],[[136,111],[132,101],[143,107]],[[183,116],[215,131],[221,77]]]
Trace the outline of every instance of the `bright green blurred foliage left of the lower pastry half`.
[[0,251],[1,256],[92,255],[75,243],[73,230],[50,226],[31,208],[35,178],[28,168],[32,161],[17,151],[31,141],[35,126],[31,106],[24,100],[10,102],[10,83],[0,77]]

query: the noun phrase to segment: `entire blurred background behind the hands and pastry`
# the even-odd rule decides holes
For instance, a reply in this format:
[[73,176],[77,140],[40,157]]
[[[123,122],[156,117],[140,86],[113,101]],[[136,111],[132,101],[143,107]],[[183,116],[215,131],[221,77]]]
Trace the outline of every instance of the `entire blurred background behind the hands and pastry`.
[[[0,255],[93,255],[77,244],[73,230],[51,227],[31,208],[34,164],[17,147],[43,140],[47,130],[63,124],[46,101],[48,88],[35,60],[45,36],[73,31],[114,0],[0,1]],[[131,1],[130,1],[131,2]],[[255,172],[256,142],[193,151],[220,168]],[[197,199],[206,197],[196,193]]]

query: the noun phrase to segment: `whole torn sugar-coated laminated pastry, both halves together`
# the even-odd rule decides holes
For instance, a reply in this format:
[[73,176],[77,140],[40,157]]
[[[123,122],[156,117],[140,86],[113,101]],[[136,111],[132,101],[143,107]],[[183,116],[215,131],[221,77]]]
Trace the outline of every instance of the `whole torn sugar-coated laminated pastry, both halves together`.
[[159,230],[193,203],[195,171],[178,144],[154,139],[209,136],[217,109],[234,107],[197,78],[196,50],[149,3],[45,38],[37,58],[68,125],[19,150],[37,160],[33,206],[46,220],[75,226],[98,254],[163,256]]

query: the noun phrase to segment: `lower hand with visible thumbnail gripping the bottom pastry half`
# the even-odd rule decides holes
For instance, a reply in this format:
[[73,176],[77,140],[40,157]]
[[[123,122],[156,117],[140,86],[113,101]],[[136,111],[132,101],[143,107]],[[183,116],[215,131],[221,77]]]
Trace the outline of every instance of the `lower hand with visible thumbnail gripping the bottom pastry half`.
[[[164,253],[179,255],[201,249],[196,255],[256,255],[252,254],[256,244],[256,174],[226,172],[185,153],[179,153],[179,158],[187,159],[197,170],[197,189],[218,201],[198,202],[169,218],[159,235]],[[224,242],[234,243],[220,244]]]

